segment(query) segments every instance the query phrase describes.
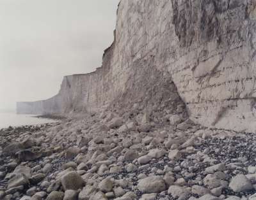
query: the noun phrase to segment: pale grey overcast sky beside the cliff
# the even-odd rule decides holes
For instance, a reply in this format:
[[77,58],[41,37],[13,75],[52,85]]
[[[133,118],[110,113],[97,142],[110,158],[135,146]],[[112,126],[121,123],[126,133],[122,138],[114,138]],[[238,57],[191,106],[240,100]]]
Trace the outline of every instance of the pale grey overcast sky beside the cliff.
[[119,0],[0,0],[0,109],[57,94],[101,66]]

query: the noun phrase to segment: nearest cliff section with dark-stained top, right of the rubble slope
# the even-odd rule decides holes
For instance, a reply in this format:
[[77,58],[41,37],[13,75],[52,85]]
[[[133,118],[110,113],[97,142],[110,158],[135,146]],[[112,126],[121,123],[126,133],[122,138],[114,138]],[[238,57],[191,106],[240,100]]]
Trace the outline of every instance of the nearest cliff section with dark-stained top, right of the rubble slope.
[[191,119],[255,132],[255,1],[173,5],[179,48],[168,69]]

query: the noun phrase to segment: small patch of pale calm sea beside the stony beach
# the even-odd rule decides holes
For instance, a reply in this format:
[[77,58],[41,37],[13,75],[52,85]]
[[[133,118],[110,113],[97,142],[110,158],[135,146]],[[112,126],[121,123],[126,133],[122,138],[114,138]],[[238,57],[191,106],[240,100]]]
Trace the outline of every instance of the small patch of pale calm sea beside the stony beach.
[[36,115],[17,115],[16,113],[1,113],[0,112],[0,129],[7,128],[10,125],[36,125],[56,122],[55,120],[46,118],[36,118]]

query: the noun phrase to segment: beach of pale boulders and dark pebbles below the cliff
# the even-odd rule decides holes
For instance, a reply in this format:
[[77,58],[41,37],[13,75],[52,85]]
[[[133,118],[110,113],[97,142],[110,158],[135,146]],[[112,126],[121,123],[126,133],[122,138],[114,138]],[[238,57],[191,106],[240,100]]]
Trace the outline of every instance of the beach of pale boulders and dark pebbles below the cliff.
[[256,136],[116,113],[0,132],[0,199],[253,200]]

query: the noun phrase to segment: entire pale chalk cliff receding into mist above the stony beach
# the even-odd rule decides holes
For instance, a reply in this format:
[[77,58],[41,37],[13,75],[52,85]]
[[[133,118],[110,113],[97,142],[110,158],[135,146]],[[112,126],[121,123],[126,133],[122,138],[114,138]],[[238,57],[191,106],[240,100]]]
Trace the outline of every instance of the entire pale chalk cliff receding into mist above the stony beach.
[[[18,113],[102,108],[177,113],[207,127],[256,132],[255,0],[122,0],[102,67],[65,76]],[[179,110],[179,109],[178,109]]]

